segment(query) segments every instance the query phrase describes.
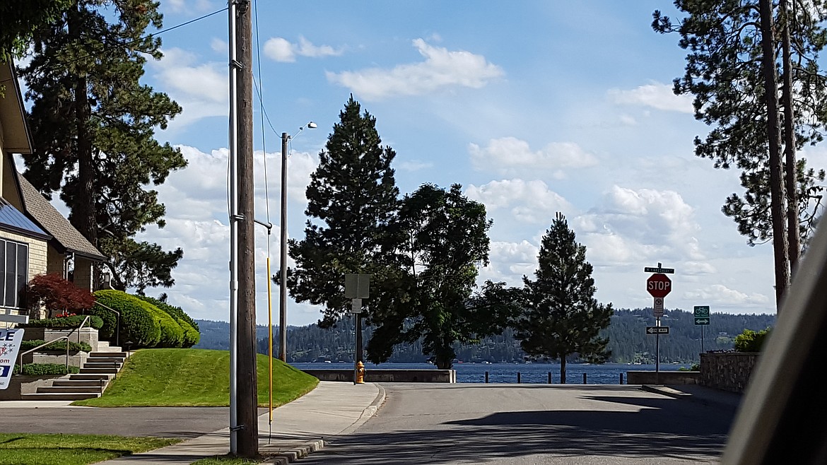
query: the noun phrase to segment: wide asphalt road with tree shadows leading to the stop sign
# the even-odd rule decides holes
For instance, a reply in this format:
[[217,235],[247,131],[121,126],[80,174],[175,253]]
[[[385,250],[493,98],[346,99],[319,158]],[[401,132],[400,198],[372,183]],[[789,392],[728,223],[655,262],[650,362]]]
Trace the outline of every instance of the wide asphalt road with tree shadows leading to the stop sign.
[[382,386],[375,417],[301,463],[715,463],[734,417],[638,386]]

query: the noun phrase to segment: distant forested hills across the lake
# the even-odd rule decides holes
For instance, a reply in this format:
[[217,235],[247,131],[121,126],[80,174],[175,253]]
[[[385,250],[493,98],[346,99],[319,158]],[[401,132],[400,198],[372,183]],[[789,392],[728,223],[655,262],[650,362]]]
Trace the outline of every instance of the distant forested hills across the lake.
[[[196,320],[201,329],[201,342],[196,348],[229,348],[229,324],[222,321]],[[662,326],[669,334],[660,337],[662,362],[697,362],[701,327],[695,325],[691,312],[666,310]],[[604,332],[609,336],[612,356],[609,362],[654,363],[655,336],[646,334],[647,326],[654,326],[652,309],[615,309],[612,323]],[[704,350],[731,349],[733,339],[744,328],[759,330],[775,325],[771,314],[712,314],[710,325],[703,327]],[[371,329],[365,329],[365,340]],[[258,351],[267,353],[267,328],[258,326]],[[278,352],[278,328],[273,330],[274,353]],[[289,327],[287,333],[288,360],[292,362],[352,362],[354,333],[352,319],[344,319],[337,328],[323,329],[315,324]],[[514,332],[485,338],[479,344],[457,347],[457,358],[463,362],[521,362],[525,354],[514,339]],[[419,343],[404,344],[394,350],[390,362],[426,362]]]

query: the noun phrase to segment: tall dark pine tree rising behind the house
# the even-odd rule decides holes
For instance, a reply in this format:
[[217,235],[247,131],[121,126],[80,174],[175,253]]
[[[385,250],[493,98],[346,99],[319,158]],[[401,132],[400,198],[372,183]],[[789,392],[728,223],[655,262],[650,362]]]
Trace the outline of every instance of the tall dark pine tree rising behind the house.
[[161,56],[160,39],[145,36],[161,26],[157,8],[152,0],[74,0],[35,32],[22,69],[35,145],[24,156],[26,178],[48,196],[60,192],[69,221],[112,256],[122,289],[172,285],[183,253],[151,253],[155,244],[131,239],[148,224],[165,225],[164,205],[146,185],[186,165],[178,149],[154,138],[181,108],[140,83],[146,57]]

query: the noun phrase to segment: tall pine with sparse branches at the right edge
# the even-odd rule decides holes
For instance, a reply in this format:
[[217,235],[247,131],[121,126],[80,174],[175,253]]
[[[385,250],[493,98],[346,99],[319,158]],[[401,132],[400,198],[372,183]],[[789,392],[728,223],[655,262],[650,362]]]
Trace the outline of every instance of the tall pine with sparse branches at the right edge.
[[827,79],[818,64],[824,4],[676,0],[675,6],[688,16],[672,22],[656,11],[652,26],[677,32],[689,51],[675,93],[693,94],[696,118],[713,127],[705,139],[696,137],[696,155],[716,168],[742,170],[745,193],[730,195],[722,210],[750,245],[772,239],[780,300],[800,236],[806,242],[814,224],[822,189],[816,183],[825,178],[796,160],[801,146],[821,141],[825,127]]

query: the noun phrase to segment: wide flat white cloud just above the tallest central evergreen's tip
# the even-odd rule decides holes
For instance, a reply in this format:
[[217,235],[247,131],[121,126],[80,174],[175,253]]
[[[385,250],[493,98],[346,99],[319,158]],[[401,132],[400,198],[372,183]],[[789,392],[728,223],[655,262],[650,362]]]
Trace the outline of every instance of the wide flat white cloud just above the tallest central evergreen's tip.
[[391,70],[328,72],[327,79],[351,89],[360,98],[379,100],[397,95],[424,95],[452,87],[480,89],[504,75],[500,66],[466,50],[431,46],[423,39],[414,40],[414,47],[424,61],[397,65]]

